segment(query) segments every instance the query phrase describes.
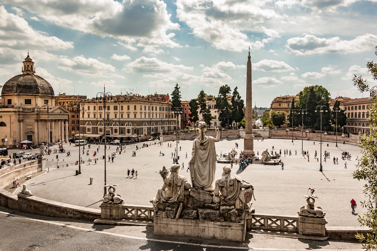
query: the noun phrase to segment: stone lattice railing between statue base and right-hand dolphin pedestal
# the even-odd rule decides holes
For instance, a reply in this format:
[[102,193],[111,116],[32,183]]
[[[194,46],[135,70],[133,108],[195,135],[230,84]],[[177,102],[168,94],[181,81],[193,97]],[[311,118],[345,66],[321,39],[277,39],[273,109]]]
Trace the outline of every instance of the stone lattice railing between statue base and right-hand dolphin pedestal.
[[299,217],[289,215],[251,214],[247,219],[248,229],[263,229],[270,231],[285,231],[296,233],[299,227]]

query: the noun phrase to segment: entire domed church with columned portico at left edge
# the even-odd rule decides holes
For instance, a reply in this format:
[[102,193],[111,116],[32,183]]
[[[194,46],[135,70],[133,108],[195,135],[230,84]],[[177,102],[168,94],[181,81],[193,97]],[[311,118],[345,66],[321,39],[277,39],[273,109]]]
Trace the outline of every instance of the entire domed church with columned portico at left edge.
[[3,145],[33,144],[68,139],[70,112],[55,106],[54,89],[35,75],[29,56],[22,62],[22,74],[6,81],[1,91],[0,138]]

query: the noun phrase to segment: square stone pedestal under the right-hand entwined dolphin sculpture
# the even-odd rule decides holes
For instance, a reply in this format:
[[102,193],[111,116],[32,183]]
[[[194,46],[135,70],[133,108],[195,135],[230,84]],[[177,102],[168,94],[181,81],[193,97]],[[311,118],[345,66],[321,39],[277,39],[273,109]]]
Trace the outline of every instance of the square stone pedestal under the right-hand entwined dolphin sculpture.
[[326,218],[302,216],[299,214],[299,234],[310,236],[326,236]]

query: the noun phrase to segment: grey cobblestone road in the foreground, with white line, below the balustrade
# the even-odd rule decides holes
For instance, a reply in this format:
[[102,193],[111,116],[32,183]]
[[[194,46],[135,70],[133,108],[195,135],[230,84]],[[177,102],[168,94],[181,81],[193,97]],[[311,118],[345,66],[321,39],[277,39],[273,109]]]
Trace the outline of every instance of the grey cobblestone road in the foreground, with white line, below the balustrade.
[[247,234],[247,243],[153,236],[153,227],[93,225],[92,222],[20,213],[0,207],[1,251],[362,251],[357,242],[300,240]]

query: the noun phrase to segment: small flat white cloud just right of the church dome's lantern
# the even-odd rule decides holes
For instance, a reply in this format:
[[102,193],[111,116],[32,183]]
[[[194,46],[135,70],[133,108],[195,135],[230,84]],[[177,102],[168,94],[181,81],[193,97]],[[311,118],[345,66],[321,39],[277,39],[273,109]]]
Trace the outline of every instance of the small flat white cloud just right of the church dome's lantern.
[[61,58],[58,61],[58,68],[64,71],[72,71],[78,75],[88,77],[111,77],[109,74],[115,71],[115,67],[110,64],[104,64],[94,58],[84,58],[76,56],[73,59]]

